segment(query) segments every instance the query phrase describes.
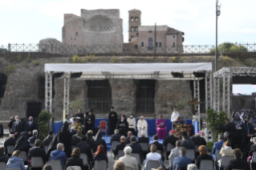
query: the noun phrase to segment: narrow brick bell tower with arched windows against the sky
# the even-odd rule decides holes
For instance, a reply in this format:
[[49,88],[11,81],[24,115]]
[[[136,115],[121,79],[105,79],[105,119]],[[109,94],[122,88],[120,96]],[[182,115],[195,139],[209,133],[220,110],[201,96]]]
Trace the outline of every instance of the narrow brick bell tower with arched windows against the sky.
[[139,30],[139,26],[141,25],[141,11],[140,10],[129,10],[129,28],[128,28],[128,32],[129,32],[129,38],[128,41],[131,42],[131,39],[133,37],[137,36],[138,30]]

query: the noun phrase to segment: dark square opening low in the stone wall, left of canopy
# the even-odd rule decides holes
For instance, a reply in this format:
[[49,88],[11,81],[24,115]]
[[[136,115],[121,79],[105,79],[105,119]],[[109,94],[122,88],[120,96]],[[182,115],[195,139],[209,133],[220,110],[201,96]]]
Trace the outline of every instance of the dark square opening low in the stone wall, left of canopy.
[[43,102],[35,100],[26,101],[26,118],[32,116],[33,118],[38,118],[40,112],[43,109]]

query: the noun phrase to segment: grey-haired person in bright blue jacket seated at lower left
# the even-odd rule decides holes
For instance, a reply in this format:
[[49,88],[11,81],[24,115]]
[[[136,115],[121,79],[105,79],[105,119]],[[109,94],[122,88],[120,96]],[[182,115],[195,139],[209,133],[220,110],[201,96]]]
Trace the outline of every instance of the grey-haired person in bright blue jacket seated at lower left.
[[64,170],[66,162],[67,162],[67,156],[66,156],[66,153],[63,151],[64,151],[64,144],[59,143],[57,145],[57,149],[55,151],[51,152],[51,156],[50,156],[49,160],[50,161],[51,160],[60,160],[60,163]]

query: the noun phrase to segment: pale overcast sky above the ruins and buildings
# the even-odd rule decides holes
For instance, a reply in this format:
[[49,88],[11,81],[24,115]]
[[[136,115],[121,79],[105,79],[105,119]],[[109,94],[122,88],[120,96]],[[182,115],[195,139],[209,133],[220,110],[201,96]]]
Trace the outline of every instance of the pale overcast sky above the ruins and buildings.
[[[80,9],[119,9],[124,42],[128,41],[128,10],[142,12],[142,25],[168,25],[185,32],[187,45],[215,44],[215,0],[1,0],[0,46],[62,41],[63,14],[80,16]],[[256,1],[222,0],[219,43],[256,42]]]

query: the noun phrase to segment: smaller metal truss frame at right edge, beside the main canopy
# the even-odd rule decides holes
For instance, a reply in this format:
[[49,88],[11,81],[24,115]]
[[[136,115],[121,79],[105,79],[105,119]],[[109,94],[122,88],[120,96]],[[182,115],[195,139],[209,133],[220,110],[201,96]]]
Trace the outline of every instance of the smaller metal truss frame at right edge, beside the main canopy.
[[[225,111],[230,117],[230,79],[233,76],[256,76],[255,67],[223,67],[221,70],[213,74],[214,84],[214,102],[213,107],[215,111]],[[222,79],[222,102],[220,100],[220,80]],[[216,88],[217,85],[217,88]],[[217,91],[216,91],[217,90]]]

